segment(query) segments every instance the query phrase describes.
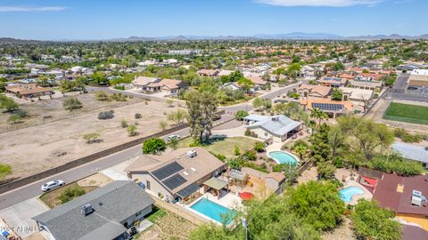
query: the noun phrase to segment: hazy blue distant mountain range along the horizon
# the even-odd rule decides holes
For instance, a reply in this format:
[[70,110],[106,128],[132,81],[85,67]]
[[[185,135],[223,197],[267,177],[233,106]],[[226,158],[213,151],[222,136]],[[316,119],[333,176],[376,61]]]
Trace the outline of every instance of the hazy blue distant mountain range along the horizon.
[[[52,40],[53,42],[137,42],[137,41],[184,41],[184,40],[382,40],[382,39],[428,39],[428,34],[421,36],[402,36],[398,34],[391,35],[366,35],[366,36],[340,36],[328,33],[303,33],[293,32],[288,34],[258,34],[254,36],[129,36],[123,38],[111,39],[92,39],[92,40]],[[0,43],[37,43],[42,41],[14,39],[10,37],[0,38]]]

